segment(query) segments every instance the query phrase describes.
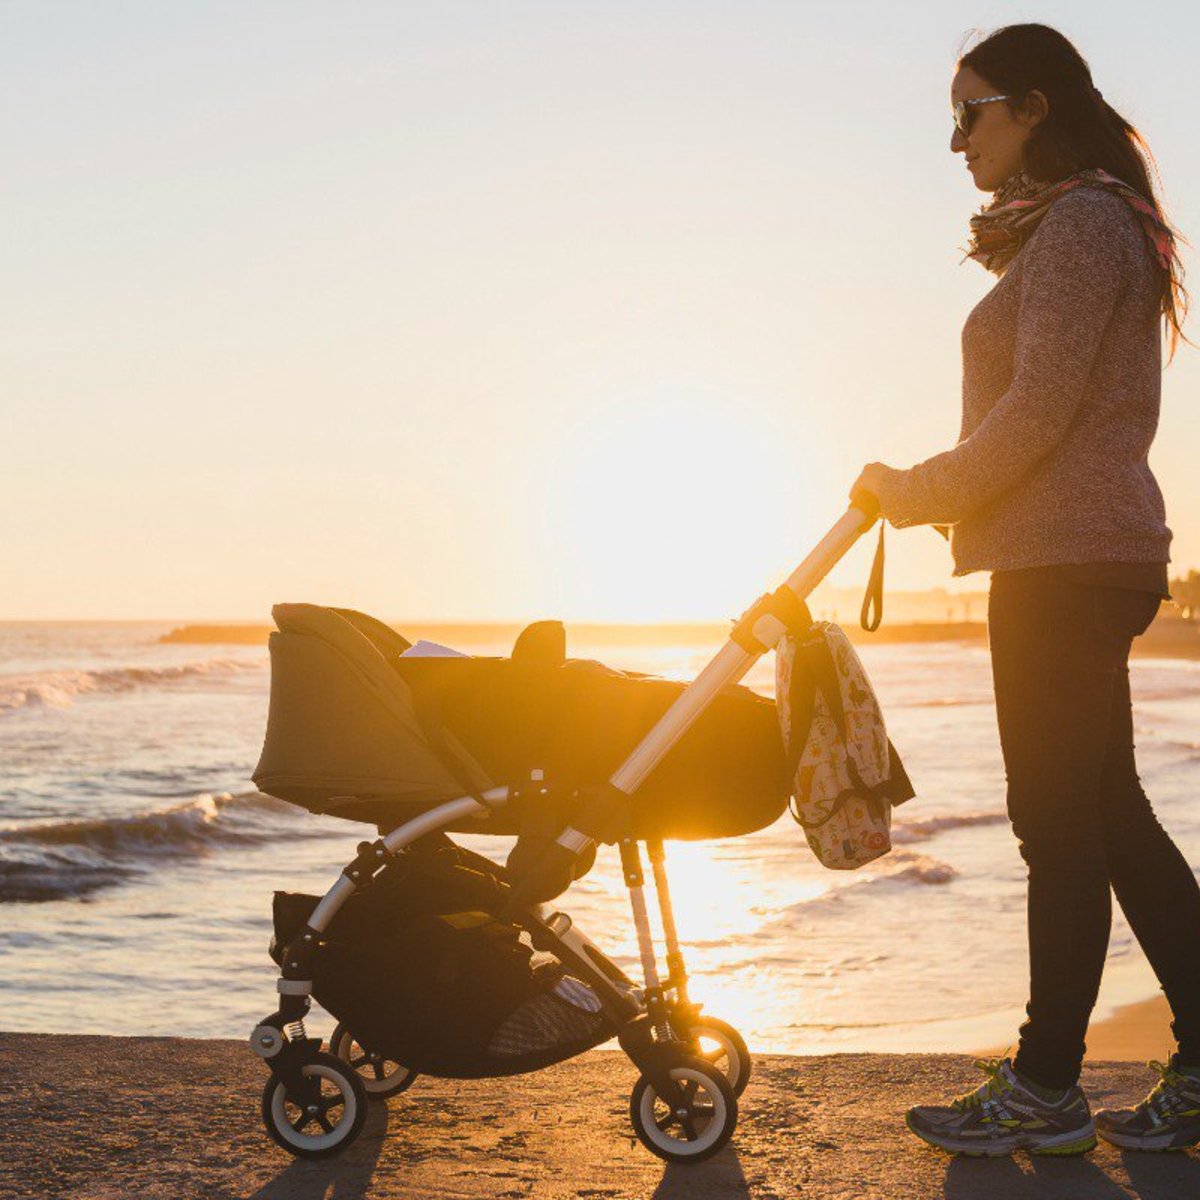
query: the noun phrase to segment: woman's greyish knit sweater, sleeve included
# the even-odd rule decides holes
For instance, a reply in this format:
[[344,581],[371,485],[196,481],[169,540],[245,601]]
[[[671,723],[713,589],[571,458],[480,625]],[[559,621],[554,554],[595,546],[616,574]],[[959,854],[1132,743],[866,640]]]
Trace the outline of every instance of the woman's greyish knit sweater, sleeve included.
[[1165,563],[1158,266],[1129,206],[1060,197],[962,326],[959,444],[888,490],[896,526],[949,524],[954,574]]

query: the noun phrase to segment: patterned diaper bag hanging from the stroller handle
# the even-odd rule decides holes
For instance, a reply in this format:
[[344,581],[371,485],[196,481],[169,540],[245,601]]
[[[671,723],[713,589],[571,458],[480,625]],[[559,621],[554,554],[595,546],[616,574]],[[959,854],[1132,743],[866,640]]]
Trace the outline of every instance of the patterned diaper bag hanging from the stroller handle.
[[892,805],[913,796],[845,631],[816,622],[776,647],[775,697],[792,815],[817,858],[852,870],[892,848]]

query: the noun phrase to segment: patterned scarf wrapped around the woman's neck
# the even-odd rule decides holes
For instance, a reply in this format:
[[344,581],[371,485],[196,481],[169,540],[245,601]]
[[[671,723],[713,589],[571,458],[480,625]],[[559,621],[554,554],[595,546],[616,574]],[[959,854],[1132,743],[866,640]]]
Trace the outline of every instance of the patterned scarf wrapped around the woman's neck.
[[1175,259],[1171,230],[1144,196],[1099,168],[1076,172],[1057,184],[1036,184],[1025,172],[1018,172],[1001,184],[991,203],[971,218],[971,242],[966,257],[996,275],[1003,275],[1042,223],[1050,205],[1075,187],[1099,187],[1120,196],[1138,217],[1158,265],[1170,271]]

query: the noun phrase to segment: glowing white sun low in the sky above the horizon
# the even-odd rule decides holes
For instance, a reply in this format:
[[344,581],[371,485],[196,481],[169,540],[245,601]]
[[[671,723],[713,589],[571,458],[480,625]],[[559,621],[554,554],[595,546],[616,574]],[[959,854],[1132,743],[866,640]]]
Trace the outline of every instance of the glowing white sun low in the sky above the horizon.
[[[804,450],[750,404],[682,389],[595,406],[548,472],[542,557],[572,619],[737,616],[787,568]],[[791,527],[790,527],[791,526]]]

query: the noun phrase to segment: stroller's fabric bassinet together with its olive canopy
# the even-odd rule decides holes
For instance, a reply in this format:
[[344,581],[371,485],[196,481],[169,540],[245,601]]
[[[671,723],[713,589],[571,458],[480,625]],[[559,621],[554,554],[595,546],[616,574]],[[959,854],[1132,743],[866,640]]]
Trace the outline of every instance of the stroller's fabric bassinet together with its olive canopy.
[[[272,610],[271,697],[254,782],[264,792],[391,829],[460,796],[516,784],[602,784],[684,685],[565,656],[557,622],[510,658],[403,656],[390,626],[347,608]],[[637,838],[737,836],[787,803],[774,702],[727,688],[634,800]],[[503,806],[456,828],[520,832]]]

